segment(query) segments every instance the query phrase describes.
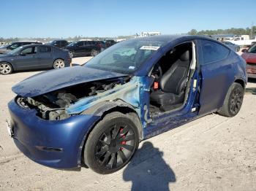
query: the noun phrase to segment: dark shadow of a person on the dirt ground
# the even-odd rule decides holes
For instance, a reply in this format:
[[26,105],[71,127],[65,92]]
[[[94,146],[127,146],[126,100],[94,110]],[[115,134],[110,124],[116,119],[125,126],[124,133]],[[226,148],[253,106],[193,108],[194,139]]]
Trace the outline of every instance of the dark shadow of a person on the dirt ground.
[[169,183],[176,182],[176,176],[162,156],[151,142],[143,143],[123,174],[124,181],[132,182],[132,191],[170,190]]

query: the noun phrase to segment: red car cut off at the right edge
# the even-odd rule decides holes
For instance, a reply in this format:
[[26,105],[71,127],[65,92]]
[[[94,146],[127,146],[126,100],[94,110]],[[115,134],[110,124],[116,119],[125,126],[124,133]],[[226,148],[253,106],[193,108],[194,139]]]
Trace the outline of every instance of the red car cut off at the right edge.
[[256,78],[256,43],[248,50],[242,50],[242,58],[246,61],[246,71],[249,78]]

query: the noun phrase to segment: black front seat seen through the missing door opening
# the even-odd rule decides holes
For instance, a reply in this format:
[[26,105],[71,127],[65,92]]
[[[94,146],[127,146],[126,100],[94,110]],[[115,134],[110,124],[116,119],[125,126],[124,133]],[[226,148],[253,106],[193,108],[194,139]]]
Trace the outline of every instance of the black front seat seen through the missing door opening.
[[165,111],[170,106],[183,103],[189,65],[189,50],[187,50],[162,76],[159,82],[161,90],[154,91],[150,95],[151,104],[158,105]]

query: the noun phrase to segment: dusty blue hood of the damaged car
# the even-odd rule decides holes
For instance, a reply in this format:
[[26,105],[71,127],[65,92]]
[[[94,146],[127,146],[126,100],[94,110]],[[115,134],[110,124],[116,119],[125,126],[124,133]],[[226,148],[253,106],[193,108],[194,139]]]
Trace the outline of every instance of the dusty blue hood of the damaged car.
[[99,79],[125,77],[126,74],[91,69],[86,66],[73,66],[64,69],[44,71],[24,79],[12,87],[12,91],[23,97],[34,97],[64,87],[92,82]]

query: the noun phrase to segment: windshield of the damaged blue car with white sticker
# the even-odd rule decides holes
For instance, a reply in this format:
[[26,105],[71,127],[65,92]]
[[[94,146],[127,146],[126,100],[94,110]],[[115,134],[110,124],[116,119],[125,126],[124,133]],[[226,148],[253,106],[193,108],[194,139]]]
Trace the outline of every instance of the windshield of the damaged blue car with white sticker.
[[85,66],[122,74],[133,74],[167,42],[132,39],[119,42],[92,58]]

